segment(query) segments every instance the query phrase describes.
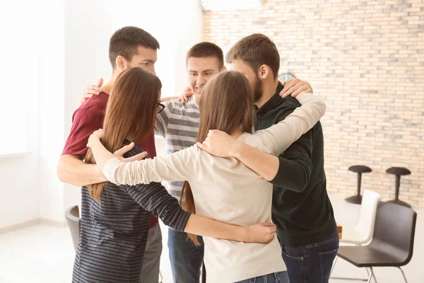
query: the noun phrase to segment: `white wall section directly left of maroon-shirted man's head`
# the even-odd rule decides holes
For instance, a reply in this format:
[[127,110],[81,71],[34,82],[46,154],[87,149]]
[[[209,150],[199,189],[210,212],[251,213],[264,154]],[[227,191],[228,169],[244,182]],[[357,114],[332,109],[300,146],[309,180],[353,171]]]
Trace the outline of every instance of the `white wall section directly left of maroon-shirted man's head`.
[[[83,90],[102,77],[110,79],[108,49],[112,30],[109,1],[73,0],[65,6],[64,134],[68,137],[73,111],[80,105]],[[63,184],[64,207],[81,203],[81,187]]]

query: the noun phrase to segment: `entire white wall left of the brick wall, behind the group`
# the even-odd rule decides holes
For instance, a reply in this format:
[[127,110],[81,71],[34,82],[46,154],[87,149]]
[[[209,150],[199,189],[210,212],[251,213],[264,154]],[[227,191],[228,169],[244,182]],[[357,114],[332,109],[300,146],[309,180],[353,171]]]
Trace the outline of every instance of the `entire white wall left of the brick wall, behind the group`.
[[[17,71],[28,73],[21,77],[33,79],[30,86],[25,84],[28,79],[18,83],[18,91],[32,92],[28,100],[29,153],[0,156],[0,209],[7,215],[0,218],[0,231],[34,219],[64,223],[66,207],[80,203],[80,188],[57,179],[57,161],[83,89],[99,77],[110,79],[107,52],[114,30],[135,25],[158,39],[156,70],[163,81],[163,96],[175,96],[187,85],[185,54],[201,41],[203,22],[197,0],[22,0],[13,1],[14,9],[10,3],[1,3],[1,16],[11,15],[16,23],[32,23],[30,27],[25,24],[26,31],[31,31],[20,53],[34,62],[26,59],[29,66],[23,70],[16,64]],[[28,15],[20,10],[23,5]],[[46,6],[49,8],[41,8]],[[29,21],[31,17],[34,21]],[[6,25],[1,28],[7,30]],[[38,70],[31,69],[37,62]],[[15,79],[22,74],[10,73]],[[8,96],[1,95],[7,101]],[[22,107],[19,110],[25,112]],[[158,142],[158,152],[164,152],[163,145]]]

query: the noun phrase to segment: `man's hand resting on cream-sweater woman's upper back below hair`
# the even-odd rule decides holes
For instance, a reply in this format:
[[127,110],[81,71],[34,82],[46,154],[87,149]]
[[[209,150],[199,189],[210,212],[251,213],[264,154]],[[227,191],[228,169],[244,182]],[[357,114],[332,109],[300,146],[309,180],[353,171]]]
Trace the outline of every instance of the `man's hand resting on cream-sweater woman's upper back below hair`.
[[199,149],[218,157],[236,157],[240,142],[226,132],[210,129],[203,143],[198,142]]

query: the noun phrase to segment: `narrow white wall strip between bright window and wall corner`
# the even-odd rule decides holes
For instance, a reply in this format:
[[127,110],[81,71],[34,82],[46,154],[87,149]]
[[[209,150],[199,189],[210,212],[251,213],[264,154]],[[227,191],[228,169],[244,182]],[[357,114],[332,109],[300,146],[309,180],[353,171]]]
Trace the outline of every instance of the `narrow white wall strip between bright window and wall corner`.
[[49,221],[64,221],[64,188],[56,174],[64,137],[65,98],[65,1],[42,1],[48,15],[39,17],[40,43],[40,215]]

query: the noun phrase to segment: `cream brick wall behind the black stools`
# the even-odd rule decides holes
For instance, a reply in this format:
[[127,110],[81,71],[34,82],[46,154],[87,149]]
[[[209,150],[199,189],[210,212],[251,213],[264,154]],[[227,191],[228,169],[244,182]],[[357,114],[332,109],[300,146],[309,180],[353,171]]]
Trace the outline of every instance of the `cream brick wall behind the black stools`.
[[424,205],[424,0],[266,1],[257,11],[204,11],[204,40],[227,52],[264,33],[281,55],[280,72],[309,81],[327,104],[324,126],[330,193],[353,195],[351,165],[370,166],[363,189]]

